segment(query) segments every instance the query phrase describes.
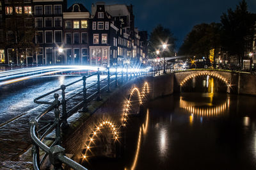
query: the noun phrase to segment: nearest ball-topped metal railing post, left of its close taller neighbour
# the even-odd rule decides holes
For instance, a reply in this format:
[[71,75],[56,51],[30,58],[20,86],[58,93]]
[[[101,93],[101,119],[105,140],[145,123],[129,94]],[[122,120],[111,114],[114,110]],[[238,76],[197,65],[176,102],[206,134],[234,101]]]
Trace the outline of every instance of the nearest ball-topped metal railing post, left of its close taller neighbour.
[[[60,131],[60,101],[58,100],[59,95],[57,93],[54,94],[54,105],[55,105],[55,109],[54,109],[54,115],[55,115],[55,123],[56,123],[56,130],[55,130],[55,135],[56,135],[56,144],[60,145],[61,143],[61,131]],[[67,121],[67,119],[66,119]]]

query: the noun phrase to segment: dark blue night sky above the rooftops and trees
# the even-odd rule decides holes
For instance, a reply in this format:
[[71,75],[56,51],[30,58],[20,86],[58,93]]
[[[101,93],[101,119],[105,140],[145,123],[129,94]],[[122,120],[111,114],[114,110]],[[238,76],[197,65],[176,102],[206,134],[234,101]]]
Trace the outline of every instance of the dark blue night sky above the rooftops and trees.
[[[102,0],[100,0],[102,1]],[[241,0],[104,0],[106,4],[133,4],[135,26],[148,33],[157,24],[168,27],[177,47],[195,24],[220,22],[220,16],[228,8],[234,9]],[[93,0],[68,0],[68,6],[82,3],[91,11]],[[248,10],[256,13],[256,0],[247,0]]]

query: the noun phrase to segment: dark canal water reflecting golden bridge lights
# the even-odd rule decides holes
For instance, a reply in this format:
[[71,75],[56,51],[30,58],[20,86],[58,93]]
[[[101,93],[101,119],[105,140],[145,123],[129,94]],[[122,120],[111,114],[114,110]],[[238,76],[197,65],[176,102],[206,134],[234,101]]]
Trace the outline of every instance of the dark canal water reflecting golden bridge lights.
[[207,89],[207,93],[176,93],[150,102],[143,116],[129,118],[122,156],[88,158],[83,166],[255,169],[256,97]]

